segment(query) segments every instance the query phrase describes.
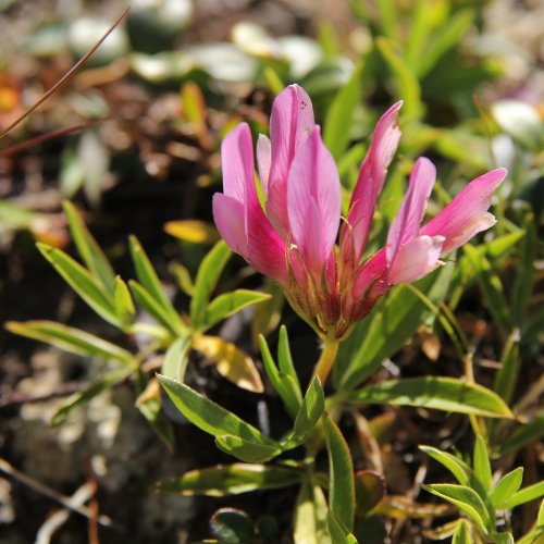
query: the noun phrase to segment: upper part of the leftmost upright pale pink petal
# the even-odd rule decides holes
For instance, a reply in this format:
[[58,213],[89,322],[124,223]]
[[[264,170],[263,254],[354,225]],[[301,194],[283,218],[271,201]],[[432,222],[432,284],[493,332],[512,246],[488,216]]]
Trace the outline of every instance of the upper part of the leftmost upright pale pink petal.
[[224,194],[243,202],[247,181],[255,177],[254,144],[246,123],[239,124],[223,139],[221,166]]

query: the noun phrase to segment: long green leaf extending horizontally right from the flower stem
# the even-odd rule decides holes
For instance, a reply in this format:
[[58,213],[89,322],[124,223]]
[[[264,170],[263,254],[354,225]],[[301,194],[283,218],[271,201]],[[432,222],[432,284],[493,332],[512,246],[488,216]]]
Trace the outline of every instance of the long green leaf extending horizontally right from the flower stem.
[[354,405],[420,406],[489,418],[512,417],[508,406],[495,393],[455,378],[387,380],[345,395],[343,398]]

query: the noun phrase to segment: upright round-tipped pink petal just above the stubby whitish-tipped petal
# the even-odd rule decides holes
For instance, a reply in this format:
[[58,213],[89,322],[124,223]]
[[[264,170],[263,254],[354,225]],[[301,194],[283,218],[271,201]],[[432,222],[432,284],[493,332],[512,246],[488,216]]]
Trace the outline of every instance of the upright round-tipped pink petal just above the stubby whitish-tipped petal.
[[424,157],[418,159],[411,171],[408,191],[387,235],[386,255],[390,263],[403,244],[418,236],[435,180],[434,164]]

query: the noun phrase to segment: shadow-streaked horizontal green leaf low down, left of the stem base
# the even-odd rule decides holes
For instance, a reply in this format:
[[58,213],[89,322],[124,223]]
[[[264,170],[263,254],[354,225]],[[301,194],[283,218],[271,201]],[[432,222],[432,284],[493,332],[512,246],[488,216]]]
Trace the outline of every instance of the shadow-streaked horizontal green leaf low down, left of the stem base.
[[300,472],[293,469],[235,462],[185,472],[176,480],[159,483],[157,491],[222,497],[257,490],[287,487],[299,483],[300,479]]

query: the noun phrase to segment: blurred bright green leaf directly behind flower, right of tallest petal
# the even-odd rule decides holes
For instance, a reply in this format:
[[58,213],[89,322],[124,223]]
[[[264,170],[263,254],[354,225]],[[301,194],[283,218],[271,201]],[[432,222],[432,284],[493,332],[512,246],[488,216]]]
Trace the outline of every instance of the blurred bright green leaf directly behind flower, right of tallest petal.
[[347,85],[336,92],[325,116],[323,141],[336,160],[342,157],[349,144],[354,113],[361,94],[361,65],[359,64]]

